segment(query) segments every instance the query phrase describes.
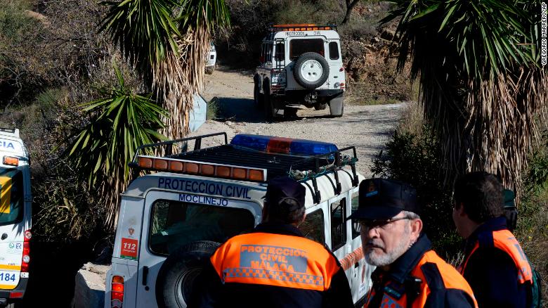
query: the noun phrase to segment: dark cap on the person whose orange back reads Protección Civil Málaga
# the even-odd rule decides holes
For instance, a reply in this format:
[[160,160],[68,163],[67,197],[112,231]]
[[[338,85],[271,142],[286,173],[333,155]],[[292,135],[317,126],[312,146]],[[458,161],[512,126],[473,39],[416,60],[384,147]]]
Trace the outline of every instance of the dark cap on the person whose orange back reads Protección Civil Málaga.
[[289,177],[277,177],[268,181],[264,198],[269,206],[280,205],[292,211],[304,207],[305,195],[306,188],[298,181]]

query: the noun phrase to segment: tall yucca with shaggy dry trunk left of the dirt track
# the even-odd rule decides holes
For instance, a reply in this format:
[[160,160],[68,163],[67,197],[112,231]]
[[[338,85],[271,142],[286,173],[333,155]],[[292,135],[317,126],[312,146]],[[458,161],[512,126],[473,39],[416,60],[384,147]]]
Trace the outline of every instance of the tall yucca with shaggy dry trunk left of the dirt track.
[[188,133],[193,96],[204,87],[214,25],[228,25],[224,0],[107,1],[100,31],[110,34],[129,63],[169,111],[170,139]]

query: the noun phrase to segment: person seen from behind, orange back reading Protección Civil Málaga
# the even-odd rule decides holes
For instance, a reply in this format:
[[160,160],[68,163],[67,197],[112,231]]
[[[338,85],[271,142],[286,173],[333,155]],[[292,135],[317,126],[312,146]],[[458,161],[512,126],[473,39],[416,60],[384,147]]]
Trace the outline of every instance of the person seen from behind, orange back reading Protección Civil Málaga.
[[263,222],[214,252],[189,307],[353,307],[337,258],[297,228],[306,217],[305,193],[293,179],[270,180]]

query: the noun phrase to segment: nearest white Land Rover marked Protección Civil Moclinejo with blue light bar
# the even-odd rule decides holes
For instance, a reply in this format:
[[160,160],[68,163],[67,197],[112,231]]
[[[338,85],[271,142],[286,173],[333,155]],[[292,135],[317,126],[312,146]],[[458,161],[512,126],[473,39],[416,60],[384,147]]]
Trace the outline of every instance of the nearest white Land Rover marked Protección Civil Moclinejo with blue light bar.
[[[200,148],[202,139],[220,137],[223,145]],[[194,143],[194,150],[143,155],[162,146],[173,153],[176,143]],[[353,147],[247,134],[230,143],[218,133],[141,146],[131,165],[152,173],[122,195],[105,307],[186,307],[203,262],[228,238],[261,222],[267,181],[279,176],[306,187],[307,216],[299,229],[333,250],[356,307],[363,306],[373,268],[346,220],[363,180],[355,161]]]

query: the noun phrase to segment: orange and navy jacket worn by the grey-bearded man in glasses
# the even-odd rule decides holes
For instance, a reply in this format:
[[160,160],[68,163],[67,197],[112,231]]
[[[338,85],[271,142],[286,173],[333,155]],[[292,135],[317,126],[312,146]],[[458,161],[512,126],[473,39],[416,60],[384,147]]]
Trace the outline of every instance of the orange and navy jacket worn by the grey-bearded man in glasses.
[[372,280],[365,302],[368,308],[478,307],[468,283],[431,250],[424,234],[389,271],[377,267]]

